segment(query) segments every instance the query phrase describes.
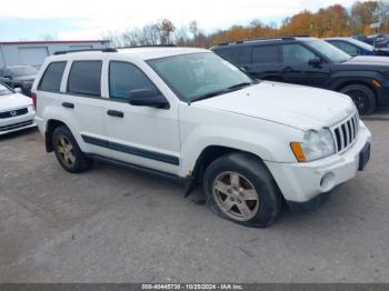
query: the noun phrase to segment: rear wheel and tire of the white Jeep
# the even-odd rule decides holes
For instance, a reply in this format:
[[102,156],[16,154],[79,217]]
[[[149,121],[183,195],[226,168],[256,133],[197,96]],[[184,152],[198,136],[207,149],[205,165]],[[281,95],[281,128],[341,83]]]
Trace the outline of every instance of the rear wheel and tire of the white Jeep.
[[90,169],[92,160],[84,155],[67,127],[58,127],[54,130],[52,144],[56,157],[66,171],[79,173]]

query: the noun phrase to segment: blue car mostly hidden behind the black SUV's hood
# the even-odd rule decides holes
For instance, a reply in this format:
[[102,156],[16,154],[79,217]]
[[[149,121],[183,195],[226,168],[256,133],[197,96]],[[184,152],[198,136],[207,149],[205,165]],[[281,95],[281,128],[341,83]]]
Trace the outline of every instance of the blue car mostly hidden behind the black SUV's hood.
[[326,38],[323,39],[328,43],[337,47],[338,49],[347,52],[351,57],[356,56],[389,56],[389,48],[375,49],[372,46],[356,40],[353,38]]

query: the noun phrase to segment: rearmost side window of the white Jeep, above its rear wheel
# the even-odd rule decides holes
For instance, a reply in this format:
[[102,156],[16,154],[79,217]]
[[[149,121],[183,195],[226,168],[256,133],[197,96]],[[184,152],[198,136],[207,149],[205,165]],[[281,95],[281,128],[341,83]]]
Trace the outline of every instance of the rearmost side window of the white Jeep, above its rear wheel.
[[38,90],[59,92],[67,62],[52,62],[46,69]]

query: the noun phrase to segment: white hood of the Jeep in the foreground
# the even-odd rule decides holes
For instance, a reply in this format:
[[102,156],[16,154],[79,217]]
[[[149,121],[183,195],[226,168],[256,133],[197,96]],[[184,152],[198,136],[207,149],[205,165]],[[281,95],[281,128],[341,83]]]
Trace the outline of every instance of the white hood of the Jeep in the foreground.
[[303,86],[263,81],[192,106],[282,123],[301,130],[330,127],[356,112],[345,94]]

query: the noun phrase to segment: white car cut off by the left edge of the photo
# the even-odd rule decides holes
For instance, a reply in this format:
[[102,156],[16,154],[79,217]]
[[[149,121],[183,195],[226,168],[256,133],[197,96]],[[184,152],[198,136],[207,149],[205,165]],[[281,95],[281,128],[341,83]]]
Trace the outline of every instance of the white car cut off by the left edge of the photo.
[[0,82],[0,136],[37,127],[31,98]]

